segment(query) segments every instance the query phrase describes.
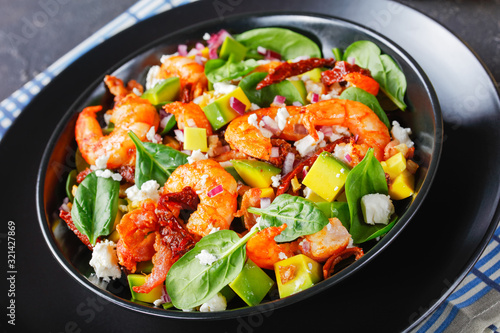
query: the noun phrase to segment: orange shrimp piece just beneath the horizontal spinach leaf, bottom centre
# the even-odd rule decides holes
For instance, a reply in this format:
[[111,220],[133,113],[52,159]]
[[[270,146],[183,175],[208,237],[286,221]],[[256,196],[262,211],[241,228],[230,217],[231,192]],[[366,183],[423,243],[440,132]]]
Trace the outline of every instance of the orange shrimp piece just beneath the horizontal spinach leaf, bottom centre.
[[285,230],[286,224],[280,227],[268,227],[252,236],[247,242],[247,255],[257,266],[274,269],[280,260],[293,257],[297,252],[297,243],[278,244],[274,237]]

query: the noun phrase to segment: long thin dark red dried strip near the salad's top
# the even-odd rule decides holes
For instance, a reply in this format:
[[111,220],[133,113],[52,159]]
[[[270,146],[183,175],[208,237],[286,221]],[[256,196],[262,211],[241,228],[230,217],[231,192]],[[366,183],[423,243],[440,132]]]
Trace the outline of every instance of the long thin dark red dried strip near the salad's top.
[[306,60],[300,60],[297,62],[283,62],[275,68],[269,70],[269,74],[257,84],[256,89],[262,89],[273,83],[278,83],[286,78],[303,74],[310,71],[311,69],[318,67],[333,67],[335,65],[335,59],[323,59],[323,58],[310,58]]

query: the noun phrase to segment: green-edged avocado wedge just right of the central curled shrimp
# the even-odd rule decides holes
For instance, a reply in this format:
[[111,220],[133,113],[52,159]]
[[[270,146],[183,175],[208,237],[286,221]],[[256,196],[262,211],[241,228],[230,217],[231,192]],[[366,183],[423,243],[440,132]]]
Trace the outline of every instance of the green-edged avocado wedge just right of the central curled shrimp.
[[256,160],[231,160],[236,172],[243,181],[251,187],[269,187],[273,182],[271,177],[281,173],[274,165]]

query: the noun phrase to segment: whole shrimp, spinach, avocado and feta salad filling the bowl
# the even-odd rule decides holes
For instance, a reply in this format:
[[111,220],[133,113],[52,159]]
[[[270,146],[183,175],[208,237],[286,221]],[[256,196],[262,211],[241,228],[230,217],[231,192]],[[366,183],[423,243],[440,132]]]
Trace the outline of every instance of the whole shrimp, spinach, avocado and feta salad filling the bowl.
[[90,278],[126,281],[134,302],[223,311],[361,258],[418,164],[411,129],[389,120],[406,109],[398,65],[370,41],[332,52],[284,28],[221,30],[145,82],[107,75],[113,102],[78,115],[59,212],[92,251]]

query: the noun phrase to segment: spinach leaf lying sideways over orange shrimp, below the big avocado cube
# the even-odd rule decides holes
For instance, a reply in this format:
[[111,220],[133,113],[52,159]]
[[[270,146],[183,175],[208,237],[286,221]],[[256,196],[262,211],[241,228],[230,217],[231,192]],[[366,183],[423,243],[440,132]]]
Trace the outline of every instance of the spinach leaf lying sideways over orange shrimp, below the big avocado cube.
[[274,239],[277,242],[290,242],[300,236],[310,235],[323,229],[328,218],[313,202],[294,195],[282,194],[267,208],[250,207],[248,211],[261,215],[263,227],[287,227]]

